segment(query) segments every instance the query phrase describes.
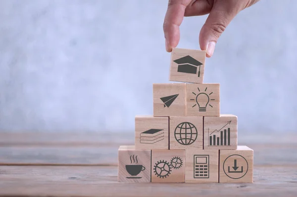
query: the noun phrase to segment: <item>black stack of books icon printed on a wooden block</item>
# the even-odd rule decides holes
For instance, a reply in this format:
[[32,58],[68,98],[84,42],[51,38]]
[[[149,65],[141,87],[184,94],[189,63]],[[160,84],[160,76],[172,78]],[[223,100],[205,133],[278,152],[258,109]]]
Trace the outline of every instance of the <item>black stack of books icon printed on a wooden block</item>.
[[163,129],[149,129],[140,134],[141,144],[155,144],[161,140],[164,140]]

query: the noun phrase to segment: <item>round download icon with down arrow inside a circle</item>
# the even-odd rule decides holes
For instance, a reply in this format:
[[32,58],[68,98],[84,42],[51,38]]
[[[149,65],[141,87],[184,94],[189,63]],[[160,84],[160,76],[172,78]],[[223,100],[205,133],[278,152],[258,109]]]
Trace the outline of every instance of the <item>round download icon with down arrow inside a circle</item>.
[[228,156],[223,163],[224,173],[231,179],[240,179],[247,174],[247,159],[239,154]]

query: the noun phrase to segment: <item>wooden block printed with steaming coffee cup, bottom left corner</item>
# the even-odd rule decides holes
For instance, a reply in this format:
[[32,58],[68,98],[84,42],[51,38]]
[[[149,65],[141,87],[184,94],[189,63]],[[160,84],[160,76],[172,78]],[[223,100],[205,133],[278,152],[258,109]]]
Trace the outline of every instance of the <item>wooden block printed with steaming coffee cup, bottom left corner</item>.
[[150,182],[151,150],[120,146],[118,150],[119,182]]

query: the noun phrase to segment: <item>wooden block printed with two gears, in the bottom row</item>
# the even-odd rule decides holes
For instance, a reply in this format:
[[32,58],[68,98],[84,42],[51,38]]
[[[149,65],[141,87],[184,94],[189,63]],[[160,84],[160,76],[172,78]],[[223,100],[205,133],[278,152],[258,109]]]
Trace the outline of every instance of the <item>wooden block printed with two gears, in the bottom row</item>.
[[185,150],[151,150],[151,182],[185,182]]

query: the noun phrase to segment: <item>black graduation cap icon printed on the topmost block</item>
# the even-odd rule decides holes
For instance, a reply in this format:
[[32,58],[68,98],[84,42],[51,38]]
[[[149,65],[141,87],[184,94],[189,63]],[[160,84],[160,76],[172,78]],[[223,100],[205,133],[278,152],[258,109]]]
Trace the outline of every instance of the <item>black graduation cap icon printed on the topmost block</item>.
[[190,55],[176,59],[174,62],[178,64],[177,72],[197,74],[197,68],[199,67],[198,77],[200,77],[200,66],[202,63]]

